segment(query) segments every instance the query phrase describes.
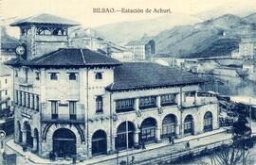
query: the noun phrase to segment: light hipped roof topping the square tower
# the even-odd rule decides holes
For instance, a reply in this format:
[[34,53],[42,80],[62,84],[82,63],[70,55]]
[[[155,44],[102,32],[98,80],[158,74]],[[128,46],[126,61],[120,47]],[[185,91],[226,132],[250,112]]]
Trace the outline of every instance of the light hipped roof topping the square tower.
[[44,14],[39,14],[39,15],[18,20],[10,24],[10,26],[26,25],[26,24],[79,25],[74,21],[44,13]]

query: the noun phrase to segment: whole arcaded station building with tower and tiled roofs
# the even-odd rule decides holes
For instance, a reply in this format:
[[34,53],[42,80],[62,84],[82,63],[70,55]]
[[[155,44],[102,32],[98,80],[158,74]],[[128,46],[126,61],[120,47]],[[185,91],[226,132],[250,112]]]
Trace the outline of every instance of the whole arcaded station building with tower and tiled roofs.
[[14,73],[15,142],[40,157],[90,158],[219,128],[217,99],[197,94],[204,79],[72,48],[68,27],[77,24],[56,16],[11,25],[21,28],[27,50],[6,62]]

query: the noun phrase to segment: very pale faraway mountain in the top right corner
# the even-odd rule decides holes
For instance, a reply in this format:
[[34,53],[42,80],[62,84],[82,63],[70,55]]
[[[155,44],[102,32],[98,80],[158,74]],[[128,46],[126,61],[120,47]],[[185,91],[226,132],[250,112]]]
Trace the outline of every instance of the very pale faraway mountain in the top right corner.
[[228,0],[225,4],[212,8],[210,10],[199,12],[195,17],[203,20],[217,18],[225,14],[233,14],[239,17],[245,17],[256,10],[255,0]]

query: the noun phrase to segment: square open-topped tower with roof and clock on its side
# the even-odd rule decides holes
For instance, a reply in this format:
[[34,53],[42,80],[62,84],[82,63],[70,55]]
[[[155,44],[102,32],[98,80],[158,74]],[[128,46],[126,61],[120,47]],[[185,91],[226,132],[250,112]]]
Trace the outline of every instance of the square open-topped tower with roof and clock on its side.
[[39,14],[14,22],[11,26],[20,27],[20,41],[23,42],[22,46],[16,48],[16,53],[30,60],[59,48],[67,48],[68,27],[73,25],[78,24],[50,14]]

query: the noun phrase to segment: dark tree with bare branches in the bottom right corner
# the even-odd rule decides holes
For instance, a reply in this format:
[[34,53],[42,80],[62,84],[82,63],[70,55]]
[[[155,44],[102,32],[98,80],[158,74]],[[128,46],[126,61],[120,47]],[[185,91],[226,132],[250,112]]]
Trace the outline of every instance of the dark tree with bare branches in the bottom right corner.
[[214,165],[236,165],[243,162],[247,164],[248,148],[251,146],[251,128],[247,126],[247,116],[239,114],[238,119],[231,127],[232,143],[223,145],[215,151],[211,157],[211,164]]

